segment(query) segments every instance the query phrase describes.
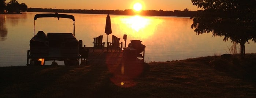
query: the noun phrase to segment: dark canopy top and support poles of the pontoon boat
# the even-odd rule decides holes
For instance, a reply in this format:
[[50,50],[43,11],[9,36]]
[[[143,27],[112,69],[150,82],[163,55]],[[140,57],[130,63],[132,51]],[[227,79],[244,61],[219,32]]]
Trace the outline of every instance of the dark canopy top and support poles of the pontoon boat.
[[74,29],[73,29],[73,35],[75,36],[75,17],[73,15],[67,15],[67,14],[58,14],[57,12],[55,12],[54,14],[36,14],[34,16],[34,36],[36,35],[36,20],[37,18],[57,18],[58,20],[60,18],[69,18],[73,20],[73,25],[74,25]]

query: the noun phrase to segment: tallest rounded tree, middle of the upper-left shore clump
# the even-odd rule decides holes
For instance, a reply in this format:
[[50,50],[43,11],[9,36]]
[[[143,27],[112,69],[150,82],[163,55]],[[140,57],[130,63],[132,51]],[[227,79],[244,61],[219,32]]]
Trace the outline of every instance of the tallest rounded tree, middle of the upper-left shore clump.
[[10,11],[10,12],[17,12],[19,10],[18,1],[11,0],[10,2],[7,3],[6,9],[7,9],[7,11]]

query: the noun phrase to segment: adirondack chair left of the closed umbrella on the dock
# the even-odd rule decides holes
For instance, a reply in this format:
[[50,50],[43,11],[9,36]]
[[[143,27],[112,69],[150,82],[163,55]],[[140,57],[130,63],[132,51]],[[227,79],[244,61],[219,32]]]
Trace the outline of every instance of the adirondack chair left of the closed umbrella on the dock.
[[104,51],[105,42],[102,42],[103,35],[100,35],[99,37],[93,38],[93,52],[95,49],[102,49],[102,52]]

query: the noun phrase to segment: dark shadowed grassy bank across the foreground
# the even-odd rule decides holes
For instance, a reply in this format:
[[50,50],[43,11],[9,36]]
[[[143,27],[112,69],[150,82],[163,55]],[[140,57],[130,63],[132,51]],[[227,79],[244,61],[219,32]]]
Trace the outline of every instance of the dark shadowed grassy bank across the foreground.
[[256,55],[82,66],[0,67],[0,98],[256,97]]

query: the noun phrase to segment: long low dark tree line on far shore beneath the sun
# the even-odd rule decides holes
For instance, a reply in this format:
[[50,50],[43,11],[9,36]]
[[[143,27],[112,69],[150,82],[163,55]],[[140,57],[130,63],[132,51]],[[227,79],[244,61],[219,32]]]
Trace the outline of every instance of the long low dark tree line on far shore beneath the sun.
[[151,15],[151,16],[182,16],[191,17],[196,15],[197,11],[189,11],[188,8],[183,11],[163,11],[163,10],[146,10],[136,13],[133,10],[63,10],[63,9],[52,9],[52,8],[28,8],[28,12],[62,12],[62,13],[83,13],[83,14],[114,14],[114,15]]

